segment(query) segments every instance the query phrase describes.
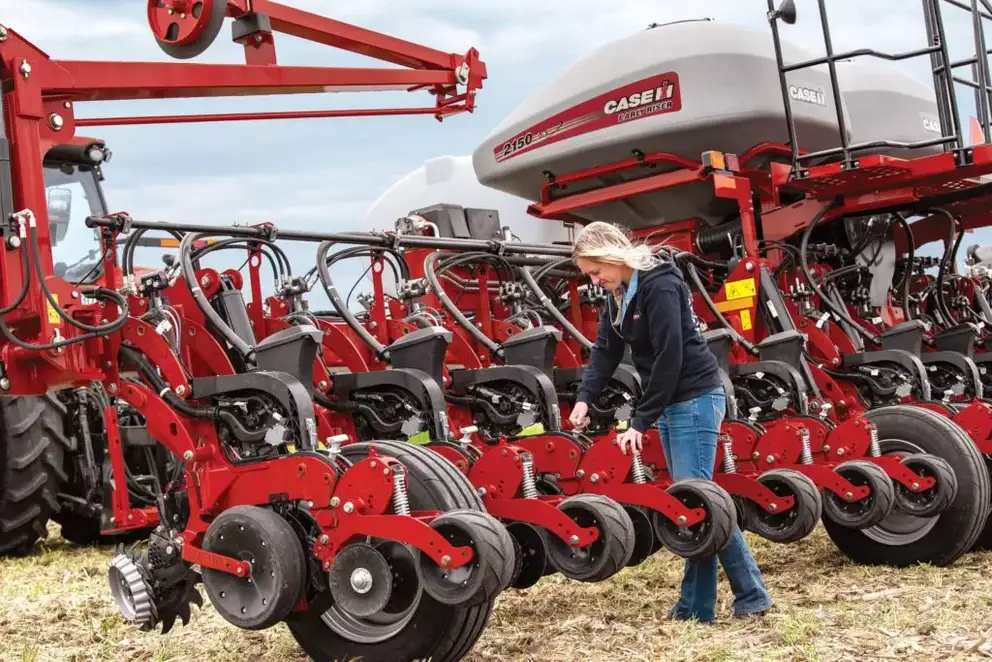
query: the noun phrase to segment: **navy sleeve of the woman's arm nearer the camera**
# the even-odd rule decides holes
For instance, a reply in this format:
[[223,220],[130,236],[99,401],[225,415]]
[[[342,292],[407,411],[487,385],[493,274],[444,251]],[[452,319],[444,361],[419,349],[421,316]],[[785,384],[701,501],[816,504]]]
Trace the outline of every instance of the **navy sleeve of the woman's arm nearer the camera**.
[[642,292],[644,316],[651,330],[654,363],[643,386],[630,427],[644,433],[671,403],[682,370],[682,301],[672,287]]

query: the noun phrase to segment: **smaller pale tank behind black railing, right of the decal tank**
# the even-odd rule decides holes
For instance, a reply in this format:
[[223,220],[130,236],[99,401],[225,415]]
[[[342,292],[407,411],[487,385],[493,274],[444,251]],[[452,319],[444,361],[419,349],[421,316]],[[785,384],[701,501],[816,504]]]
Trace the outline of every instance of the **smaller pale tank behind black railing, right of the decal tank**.
[[[851,118],[851,144],[875,140],[915,143],[943,135],[932,86],[907,76],[895,64],[867,57],[841,60],[836,67],[837,84]],[[912,150],[878,147],[855,155],[911,159],[942,151],[942,145]]]

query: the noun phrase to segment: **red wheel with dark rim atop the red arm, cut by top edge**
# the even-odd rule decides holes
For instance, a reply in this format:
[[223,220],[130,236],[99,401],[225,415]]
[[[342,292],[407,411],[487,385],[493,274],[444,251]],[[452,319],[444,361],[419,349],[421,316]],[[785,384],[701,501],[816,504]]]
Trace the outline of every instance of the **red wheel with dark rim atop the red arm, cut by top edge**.
[[155,41],[177,60],[207,50],[226,16],[227,0],[148,0],[148,25]]

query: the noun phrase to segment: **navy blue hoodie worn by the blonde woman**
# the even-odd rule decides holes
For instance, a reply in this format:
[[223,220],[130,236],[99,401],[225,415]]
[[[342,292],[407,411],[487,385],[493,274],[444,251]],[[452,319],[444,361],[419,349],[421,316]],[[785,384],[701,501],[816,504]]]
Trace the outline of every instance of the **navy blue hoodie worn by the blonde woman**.
[[631,427],[654,425],[662,410],[722,385],[716,357],[703,338],[692,310],[689,286],[670,262],[638,272],[637,289],[619,327],[618,303],[608,297],[599,317],[596,343],[589,357],[578,400],[592,402],[623,359],[625,345],[641,377],[643,395]]

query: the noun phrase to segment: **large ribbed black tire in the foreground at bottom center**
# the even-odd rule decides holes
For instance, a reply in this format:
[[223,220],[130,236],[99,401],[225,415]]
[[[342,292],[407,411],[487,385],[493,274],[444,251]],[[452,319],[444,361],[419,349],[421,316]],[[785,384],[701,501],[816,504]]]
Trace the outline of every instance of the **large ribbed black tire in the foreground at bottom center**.
[[[341,453],[358,460],[372,447],[396,458],[407,468],[411,510],[485,512],[482,500],[465,475],[429,449],[404,442],[376,441],[349,444]],[[513,542],[509,534],[500,547],[504,544],[509,549],[505,559],[505,580],[509,584],[513,566],[513,558],[509,556],[513,554]],[[401,620],[397,624],[355,619],[333,606],[326,611],[311,609],[291,614],[286,624],[304,652],[316,662],[351,659],[444,662],[460,660],[468,654],[482,636],[493,605],[494,600],[472,606],[448,606],[422,592],[405,622]]]

